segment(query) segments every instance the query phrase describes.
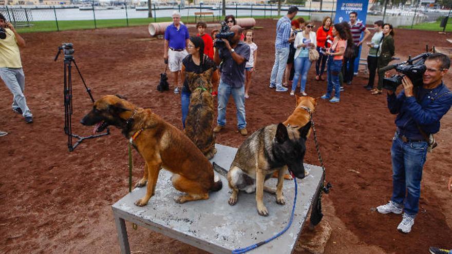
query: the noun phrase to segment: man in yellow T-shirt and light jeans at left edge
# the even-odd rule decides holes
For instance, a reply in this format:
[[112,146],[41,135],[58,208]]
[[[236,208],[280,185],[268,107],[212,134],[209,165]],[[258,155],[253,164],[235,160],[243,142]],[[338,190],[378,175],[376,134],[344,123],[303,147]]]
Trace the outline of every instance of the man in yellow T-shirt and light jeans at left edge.
[[25,75],[22,70],[21,53],[19,47],[25,47],[25,40],[6,22],[0,13],[0,77],[13,94],[12,110],[22,114],[26,123],[33,122],[33,116],[25,100]]

